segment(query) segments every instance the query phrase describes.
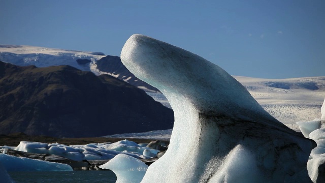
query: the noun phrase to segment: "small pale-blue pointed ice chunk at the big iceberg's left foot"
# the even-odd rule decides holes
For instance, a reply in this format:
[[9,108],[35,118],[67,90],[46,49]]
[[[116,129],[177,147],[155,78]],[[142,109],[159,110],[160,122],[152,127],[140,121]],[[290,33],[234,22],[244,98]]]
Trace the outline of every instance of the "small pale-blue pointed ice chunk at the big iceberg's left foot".
[[112,170],[117,176],[116,183],[137,183],[141,182],[148,165],[134,157],[119,154],[100,168]]

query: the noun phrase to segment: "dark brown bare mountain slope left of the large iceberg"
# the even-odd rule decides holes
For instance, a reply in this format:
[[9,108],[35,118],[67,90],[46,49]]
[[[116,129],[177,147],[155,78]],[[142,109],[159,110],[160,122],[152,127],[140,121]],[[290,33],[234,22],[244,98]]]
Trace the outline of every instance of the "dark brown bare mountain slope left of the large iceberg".
[[0,62],[0,134],[94,137],[170,129],[173,121],[171,109],[112,76]]

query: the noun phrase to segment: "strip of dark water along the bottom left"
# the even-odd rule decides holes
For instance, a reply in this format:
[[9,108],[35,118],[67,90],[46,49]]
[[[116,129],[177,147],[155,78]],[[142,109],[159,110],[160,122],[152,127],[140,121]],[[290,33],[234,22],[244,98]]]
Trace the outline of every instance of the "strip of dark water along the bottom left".
[[61,171],[61,172],[8,172],[16,183],[73,183],[73,182],[105,182],[113,183],[116,176],[112,171]]

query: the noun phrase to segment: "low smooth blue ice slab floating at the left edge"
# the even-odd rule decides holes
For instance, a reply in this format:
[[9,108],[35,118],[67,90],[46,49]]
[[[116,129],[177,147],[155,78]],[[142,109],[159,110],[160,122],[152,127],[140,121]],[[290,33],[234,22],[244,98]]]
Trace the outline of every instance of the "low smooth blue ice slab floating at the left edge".
[[72,171],[71,166],[42,160],[0,154],[0,162],[7,171]]

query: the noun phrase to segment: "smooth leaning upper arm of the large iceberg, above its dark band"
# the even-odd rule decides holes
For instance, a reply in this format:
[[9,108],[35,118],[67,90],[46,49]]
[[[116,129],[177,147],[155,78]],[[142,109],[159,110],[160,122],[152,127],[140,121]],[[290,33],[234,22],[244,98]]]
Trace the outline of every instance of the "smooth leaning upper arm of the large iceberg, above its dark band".
[[[137,77],[159,88],[171,103],[177,95],[214,115],[273,118],[223,69],[176,46],[133,35],[124,45],[121,59]],[[255,115],[244,116],[246,113]]]

